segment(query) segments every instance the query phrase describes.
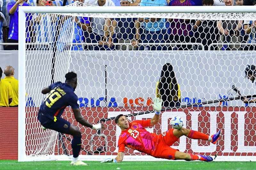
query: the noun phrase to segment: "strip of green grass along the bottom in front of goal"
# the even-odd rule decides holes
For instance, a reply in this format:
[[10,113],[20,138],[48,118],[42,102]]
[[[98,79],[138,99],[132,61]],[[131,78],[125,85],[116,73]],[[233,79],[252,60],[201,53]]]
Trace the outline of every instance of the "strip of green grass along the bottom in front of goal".
[[71,166],[71,161],[42,161],[42,162],[18,162],[17,160],[0,160],[0,169],[24,169],[24,170],[248,170],[256,169],[255,162],[201,162],[201,161],[123,161],[121,163],[100,163],[99,161],[84,161],[89,166]]

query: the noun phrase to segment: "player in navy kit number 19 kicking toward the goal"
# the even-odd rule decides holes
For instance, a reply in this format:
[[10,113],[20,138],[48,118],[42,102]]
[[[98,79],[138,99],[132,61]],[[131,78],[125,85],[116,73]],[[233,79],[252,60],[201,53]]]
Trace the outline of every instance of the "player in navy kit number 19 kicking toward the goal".
[[96,125],[89,123],[81,115],[79,100],[74,93],[77,85],[76,73],[68,72],[65,75],[65,78],[65,83],[56,82],[42,89],[43,94],[49,94],[40,106],[37,118],[42,124],[43,129],[52,129],[60,133],[72,135],[73,139],[71,141],[71,146],[73,151],[73,159],[71,161],[71,165],[87,165],[78,158],[82,144],[81,131],[70,122],[61,118],[64,109],[67,106],[71,106],[76,121],[86,127],[96,130],[106,128],[101,123]]

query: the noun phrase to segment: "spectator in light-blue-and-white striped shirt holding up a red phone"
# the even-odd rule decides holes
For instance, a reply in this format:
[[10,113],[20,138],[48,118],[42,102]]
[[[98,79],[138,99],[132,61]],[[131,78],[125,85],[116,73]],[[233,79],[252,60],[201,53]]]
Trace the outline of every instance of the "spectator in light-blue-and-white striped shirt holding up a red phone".
[[[46,3],[44,0],[37,0],[36,6],[46,6]],[[52,1],[51,6],[54,6]],[[49,50],[54,42],[57,16],[50,13],[35,13],[32,20],[35,29],[35,43],[37,43],[36,49]],[[41,44],[42,42],[49,43],[49,46]]]

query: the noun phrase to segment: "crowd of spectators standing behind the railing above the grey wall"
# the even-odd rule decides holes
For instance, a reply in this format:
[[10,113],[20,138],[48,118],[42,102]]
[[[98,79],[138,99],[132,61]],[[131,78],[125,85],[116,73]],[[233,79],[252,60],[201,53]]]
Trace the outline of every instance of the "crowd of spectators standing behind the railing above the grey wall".
[[[125,6],[124,8],[138,5],[233,6],[256,4],[256,1],[252,0],[67,0],[66,5],[75,1],[96,6]],[[19,6],[63,6],[63,2],[60,0],[0,0],[0,5],[0,43],[17,43]],[[209,50],[256,49],[255,45],[249,44],[256,43],[256,21],[253,20],[88,18],[35,13],[26,14],[26,21],[26,42],[36,43],[30,47],[38,50],[48,50],[53,44],[57,44],[57,49],[60,51],[70,49],[67,35],[71,31],[72,23],[75,27],[74,35],[70,38],[73,42],[71,47],[73,50],[200,50],[202,48],[208,50],[209,47]],[[44,42],[43,45],[42,42]],[[84,42],[87,45],[76,44]],[[143,45],[139,46],[139,43],[143,43]],[[145,45],[148,43],[154,43],[154,45]],[[218,45],[210,45],[212,43],[218,43]],[[223,43],[229,43],[229,45]],[[240,43],[247,43],[247,45]],[[4,49],[18,50],[18,46],[0,45],[0,50]]]

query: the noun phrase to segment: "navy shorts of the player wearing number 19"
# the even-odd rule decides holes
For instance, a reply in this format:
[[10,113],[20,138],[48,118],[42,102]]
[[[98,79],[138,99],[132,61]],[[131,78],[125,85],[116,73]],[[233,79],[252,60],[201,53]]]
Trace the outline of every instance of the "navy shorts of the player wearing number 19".
[[61,117],[58,117],[57,121],[54,122],[52,119],[42,115],[42,113],[38,111],[37,118],[45,128],[56,130],[60,133],[67,133],[70,128],[70,122],[66,121]]

